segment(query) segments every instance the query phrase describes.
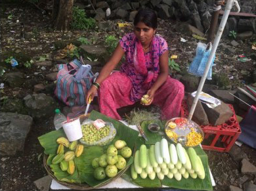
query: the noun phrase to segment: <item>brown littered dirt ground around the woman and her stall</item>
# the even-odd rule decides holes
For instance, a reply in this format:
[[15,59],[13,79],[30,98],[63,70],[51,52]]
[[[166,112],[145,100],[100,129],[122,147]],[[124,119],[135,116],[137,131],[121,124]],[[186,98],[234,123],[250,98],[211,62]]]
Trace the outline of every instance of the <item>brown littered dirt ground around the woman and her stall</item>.
[[[3,6],[2,6],[3,5]],[[45,53],[54,53],[54,41],[56,39],[62,39],[64,36],[69,35],[70,38],[81,36],[81,34],[91,33],[88,32],[54,32],[51,29],[51,17],[49,15],[41,14],[35,7],[20,6],[20,5],[4,5],[0,8],[1,16],[1,54],[16,51],[21,49],[24,53],[27,53],[32,57],[40,56]],[[12,18],[8,17],[12,15]],[[18,20],[18,22],[17,22]],[[16,24],[15,24],[16,23]],[[22,23],[22,24],[17,24]],[[176,21],[160,22],[158,33],[163,35],[171,48],[171,54],[177,54],[181,68],[186,68],[191,62],[191,58],[194,57],[194,50],[196,50],[197,40],[192,37],[188,37],[179,32],[179,30],[173,28],[177,24]],[[24,26],[33,28],[33,32],[36,37],[32,39],[22,39],[21,33]],[[125,33],[125,30],[119,30],[120,36]],[[110,32],[109,34],[114,34]],[[98,33],[100,39],[99,42],[104,40],[105,33]],[[188,43],[181,43],[180,38],[188,39]],[[234,58],[233,62],[226,59],[226,54],[220,48],[217,51],[217,66],[215,66],[215,72],[226,72],[231,77],[235,76],[234,80],[231,80],[231,87],[241,85],[242,81],[246,81],[245,75],[241,74],[242,70],[251,72],[255,65],[253,61],[241,64],[236,61],[236,56],[242,53],[251,53],[251,39],[244,41],[244,43],[236,48],[236,54],[228,57]],[[224,39],[221,44],[230,44],[230,39]],[[36,49],[36,48],[40,49]],[[224,66],[234,68],[235,70],[230,73],[229,70],[225,70]],[[7,72],[12,69],[9,68]],[[34,77],[38,83],[44,83],[45,80],[40,77],[33,76],[33,73],[37,71],[37,68],[20,68],[25,74]],[[229,72],[229,73],[228,73]],[[47,71],[43,72],[43,75],[47,74]],[[12,96],[12,89],[6,87],[5,96]],[[20,89],[20,98],[26,96],[28,93],[32,93],[32,89],[22,88]],[[20,153],[15,157],[1,157],[0,163],[0,190],[37,190],[33,181],[40,179],[47,175],[47,171],[43,167],[43,148],[39,145],[37,137],[53,130],[53,118],[46,121],[39,121],[33,123],[32,130],[26,140],[24,153]],[[256,165],[256,152],[255,149],[242,145],[242,151],[247,154],[249,161]],[[241,187],[241,178],[244,176],[240,172],[240,163],[236,163],[228,153],[205,151],[209,158],[209,167],[213,173],[213,177],[217,183],[214,190],[228,190],[230,185]],[[253,180],[255,177],[248,176],[249,180]]]

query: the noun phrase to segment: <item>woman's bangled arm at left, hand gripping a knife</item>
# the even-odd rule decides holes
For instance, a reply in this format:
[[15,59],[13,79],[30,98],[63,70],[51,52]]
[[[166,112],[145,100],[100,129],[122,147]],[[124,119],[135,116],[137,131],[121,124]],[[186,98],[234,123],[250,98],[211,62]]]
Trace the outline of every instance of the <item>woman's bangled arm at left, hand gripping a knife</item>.
[[[123,51],[120,43],[118,43],[114,53],[110,57],[110,60],[106,62],[106,64],[103,66],[102,70],[100,71],[100,74],[98,75],[95,81],[96,83],[98,84],[102,83],[102,81],[104,81],[104,79],[106,79],[106,77],[110,75],[110,73],[114,70],[114,68],[116,68],[117,64],[120,62],[124,53],[125,51]],[[96,92],[97,92],[97,89],[93,85],[87,93],[86,102],[88,102],[89,96],[91,96],[91,100],[93,100],[94,96],[96,95]]]

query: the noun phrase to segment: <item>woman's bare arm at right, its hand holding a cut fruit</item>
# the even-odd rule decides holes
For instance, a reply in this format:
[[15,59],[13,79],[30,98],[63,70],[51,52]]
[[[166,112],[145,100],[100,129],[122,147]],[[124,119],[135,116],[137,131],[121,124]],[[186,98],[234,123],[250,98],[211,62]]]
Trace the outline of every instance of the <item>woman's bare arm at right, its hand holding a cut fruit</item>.
[[158,88],[165,83],[169,70],[168,70],[168,51],[165,51],[165,53],[161,54],[159,58],[160,63],[160,74],[158,75],[158,78],[156,79],[156,82],[152,87],[148,90],[147,95],[150,99],[150,102],[147,105],[150,105],[153,102],[154,94],[158,90]]

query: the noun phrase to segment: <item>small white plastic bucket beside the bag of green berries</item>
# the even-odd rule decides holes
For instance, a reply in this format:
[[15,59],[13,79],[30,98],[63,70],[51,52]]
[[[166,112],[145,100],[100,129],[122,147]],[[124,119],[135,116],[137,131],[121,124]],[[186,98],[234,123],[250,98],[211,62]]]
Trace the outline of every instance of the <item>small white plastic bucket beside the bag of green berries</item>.
[[61,125],[69,141],[78,140],[83,137],[79,118],[70,119],[70,122],[64,121]]

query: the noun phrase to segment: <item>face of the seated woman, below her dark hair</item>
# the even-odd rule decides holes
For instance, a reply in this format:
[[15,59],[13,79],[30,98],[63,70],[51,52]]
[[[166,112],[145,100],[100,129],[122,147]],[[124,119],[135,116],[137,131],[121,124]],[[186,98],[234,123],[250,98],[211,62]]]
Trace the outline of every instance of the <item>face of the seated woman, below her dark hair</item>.
[[144,24],[144,22],[139,22],[135,26],[135,35],[140,40],[140,42],[142,44],[150,43],[155,32],[156,32],[155,29],[146,26],[146,24]]

